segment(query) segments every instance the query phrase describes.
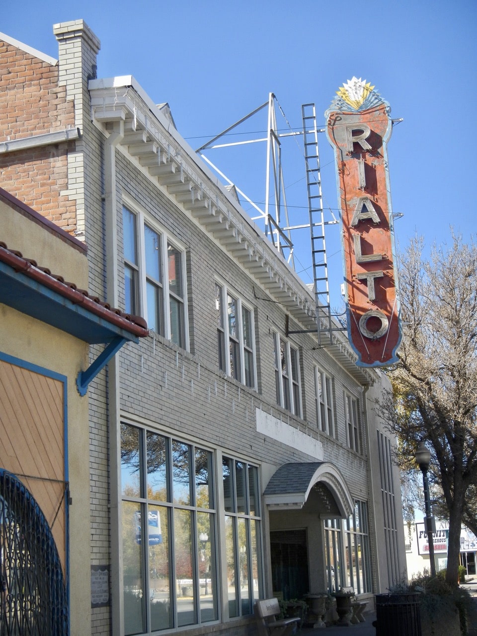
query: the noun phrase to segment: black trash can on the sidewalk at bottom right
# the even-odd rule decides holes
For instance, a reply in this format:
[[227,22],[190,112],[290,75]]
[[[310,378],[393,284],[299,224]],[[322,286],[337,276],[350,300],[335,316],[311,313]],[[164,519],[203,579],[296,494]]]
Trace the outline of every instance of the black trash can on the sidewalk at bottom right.
[[422,636],[418,593],[376,595],[376,636]]

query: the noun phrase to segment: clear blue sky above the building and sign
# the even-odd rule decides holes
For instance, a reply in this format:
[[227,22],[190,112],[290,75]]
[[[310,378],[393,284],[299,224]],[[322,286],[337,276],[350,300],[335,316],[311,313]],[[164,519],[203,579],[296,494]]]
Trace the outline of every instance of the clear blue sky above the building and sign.
[[[301,104],[308,102],[315,102],[322,125],[340,85],[366,78],[391,104],[391,116],[404,119],[388,146],[392,205],[404,214],[396,221],[399,245],[415,233],[428,245],[441,244],[450,226],[466,240],[475,232],[475,0],[10,1],[0,8],[0,31],[57,57],[52,25],[78,18],[101,41],[98,76],[134,75],[151,99],[169,102],[193,148],[265,102],[269,92],[292,128],[301,127]],[[248,130],[265,128],[265,114],[247,124]],[[324,135],[320,142],[324,205],[336,213],[333,156]],[[252,145],[254,158],[240,154],[249,148],[208,156],[260,202],[265,146]],[[303,223],[303,155],[296,141],[284,141],[283,148],[290,220]],[[293,237],[296,270],[305,270],[301,275],[310,282],[303,232]],[[329,226],[327,243],[337,307],[337,226]]]

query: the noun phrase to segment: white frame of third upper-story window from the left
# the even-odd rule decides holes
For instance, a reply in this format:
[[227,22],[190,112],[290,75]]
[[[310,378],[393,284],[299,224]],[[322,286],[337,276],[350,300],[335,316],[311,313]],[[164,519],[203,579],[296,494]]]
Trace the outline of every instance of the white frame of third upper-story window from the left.
[[[286,372],[282,369],[281,345],[284,347],[284,356],[286,363]],[[293,377],[292,356],[291,351],[296,354],[296,373],[297,378]],[[301,417],[301,373],[300,373],[300,351],[298,347],[293,347],[286,338],[280,336],[276,331],[273,332],[273,358],[275,368],[275,383],[277,387],[277,403],[286,410]],[[287,379],[288,389],[284,384],[284,378]],[[295,391],[298,392],[298,404],[296,404]],[[287,406],[289,404],[289,407]]]

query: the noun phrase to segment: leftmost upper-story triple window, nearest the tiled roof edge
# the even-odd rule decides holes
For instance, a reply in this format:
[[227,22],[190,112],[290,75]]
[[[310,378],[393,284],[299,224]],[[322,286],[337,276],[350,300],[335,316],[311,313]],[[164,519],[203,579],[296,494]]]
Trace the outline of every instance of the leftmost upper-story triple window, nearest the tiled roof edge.
[[144,214],[123,207],[125,311],[186,349],[184,251]]

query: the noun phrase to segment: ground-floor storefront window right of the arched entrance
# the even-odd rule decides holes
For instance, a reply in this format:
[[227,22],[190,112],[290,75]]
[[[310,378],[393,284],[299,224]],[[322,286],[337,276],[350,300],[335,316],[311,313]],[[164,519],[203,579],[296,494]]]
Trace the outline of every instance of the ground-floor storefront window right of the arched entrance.
[[356,501],[344,521],[324,520],[328,591],[352,587],[357,594],[370,592],[371,569],[368,541],[368,506]]

